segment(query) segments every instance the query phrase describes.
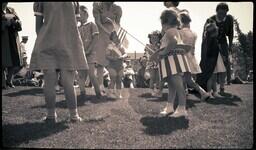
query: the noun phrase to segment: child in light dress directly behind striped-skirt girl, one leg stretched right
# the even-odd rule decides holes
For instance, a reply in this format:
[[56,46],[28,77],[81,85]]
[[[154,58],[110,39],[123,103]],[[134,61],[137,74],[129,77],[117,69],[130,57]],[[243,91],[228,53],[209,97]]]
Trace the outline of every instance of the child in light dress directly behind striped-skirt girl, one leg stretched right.
[[201,69],[197,64],[197,61],[195,58],[195,43],[196,43],[197,36],[196,36],[196,33],[190,30],[191,18],[188,14],[188,11],[187,10],[181,11],[179,16],[182,23],[181,30],[180,30],[181,38],[184,44],[191,45],[191,50],[188,53],[186,53],[191,72],[184,73],[185,83],[200,93],[201,100],[205,100],[209,98],[210,95],[207,92],[205,92],[205,90],[202,89],[197,83],[195,83],[195,81],[192,78],[192,74],[197,74],[201,72]]

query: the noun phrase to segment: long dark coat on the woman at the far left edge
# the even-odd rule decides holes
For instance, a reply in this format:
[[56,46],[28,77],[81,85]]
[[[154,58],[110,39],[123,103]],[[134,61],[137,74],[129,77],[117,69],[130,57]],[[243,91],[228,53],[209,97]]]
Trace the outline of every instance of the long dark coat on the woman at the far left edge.
[[[7,25],[6,14],[13,14],[13,22],[10,26]],[[22,30],[19,17],[13,8],[7,7],[6,13],[2,11],[1,22],[2,67],[20,67],[23,62],[19,47],[20,40],[18,31]]]

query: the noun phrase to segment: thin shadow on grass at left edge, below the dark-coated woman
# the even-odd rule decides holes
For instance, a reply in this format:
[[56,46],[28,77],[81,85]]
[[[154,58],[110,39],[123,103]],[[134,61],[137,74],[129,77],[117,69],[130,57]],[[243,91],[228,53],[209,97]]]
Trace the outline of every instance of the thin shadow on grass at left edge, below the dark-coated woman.
[[21,90],[21,91],[17,91],[17,92],[8,93],[8,94],[5,94],[4,96],[8,96],[8,97],[16,97],[16,96],[24,96],[24,95],[39,96],[39,95],[43,95],[43,94],[44,94],[44,91],[42,88],[31,88],[31,89],[27,89],[27,90]]

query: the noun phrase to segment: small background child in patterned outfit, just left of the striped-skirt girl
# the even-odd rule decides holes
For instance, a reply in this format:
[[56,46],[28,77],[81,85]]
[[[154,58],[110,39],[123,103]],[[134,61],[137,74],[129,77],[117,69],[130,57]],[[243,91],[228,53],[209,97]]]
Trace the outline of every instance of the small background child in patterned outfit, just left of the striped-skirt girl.
[[148,35],[148,38],[150,44],[146,45],[145,52],[150,59],[147,62],[146,70],[150,73],[149,88],[153,90],[152,96],[157,96],[158,94],[161,95],[161,90],[157,90],[161,83],[159,79],[158,60],[156,57],[153,58],[153,56],[160,48],[162,35],[160,31],[154,31]]

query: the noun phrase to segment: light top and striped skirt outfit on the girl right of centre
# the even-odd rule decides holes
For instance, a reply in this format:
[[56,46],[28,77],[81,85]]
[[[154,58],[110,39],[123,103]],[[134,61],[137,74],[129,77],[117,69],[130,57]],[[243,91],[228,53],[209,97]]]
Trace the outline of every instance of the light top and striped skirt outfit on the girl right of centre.
[[159,72],[161,79],[178,73],[191,72],[188,59],[185,55],[189,47],[183,44],[179,31],[176,28],[170,28],[166,31],[161,39],[160,49],[167,47],[170,40],[176,40],[177,46],[176,48],[170,50],[168,55],[164,56],[159,61]]

